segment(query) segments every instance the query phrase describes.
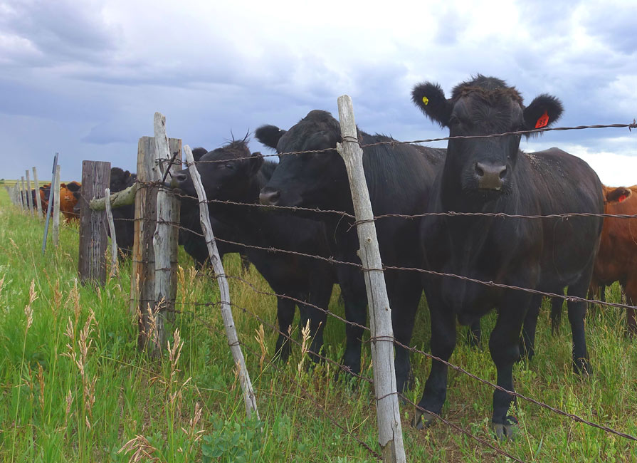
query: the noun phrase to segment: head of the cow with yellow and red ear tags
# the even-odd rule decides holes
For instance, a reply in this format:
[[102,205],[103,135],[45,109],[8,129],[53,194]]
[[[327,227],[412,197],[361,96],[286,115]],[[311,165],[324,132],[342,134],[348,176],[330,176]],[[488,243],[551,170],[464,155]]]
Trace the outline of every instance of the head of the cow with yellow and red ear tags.
[[[445,98],[440,85],[421,83],[412,99],[428,118],[448,128],[451,137],[548,127],[562,114],[562,103],[551,95],[539,95],[525,107],[514,87],[480,74],[456,85],[451,98]],[[520,135],[449,140],[446,172],[453,172],[454,187],[465,195],[495,199],[515,184],[519,147]]]

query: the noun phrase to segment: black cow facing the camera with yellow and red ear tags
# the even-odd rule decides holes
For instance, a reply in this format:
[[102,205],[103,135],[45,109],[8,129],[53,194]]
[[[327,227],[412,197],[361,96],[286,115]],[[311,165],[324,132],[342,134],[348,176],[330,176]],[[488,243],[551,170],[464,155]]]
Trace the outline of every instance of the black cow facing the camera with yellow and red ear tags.
[[[414,103],[428,118],[449,128],[451,136],[490,135],[541,128],[562,114],[562,104],[540,95],[525,107],[515,88],[478,75],[453,89],[446,99],[434,83],[416,85]],[[525,153],[520,135],[449,140],[443,170],[436,178],[429,209],[433,212],[563,214],[604,212],[601,184],[577,157],[557,148]],[[599,246],[602,219],[512,219],[502,217],[426,217],[421,222],[425,268],[510,286],[585,297]],[[498,322],[489,348],[498,385],[513,390],[512,368],[523,343],[532,351],[541,296],[484,286],[461,279],[426,276],[431,311],[431,353],[448,360],[456,345],[456,316],[470,323],[493,308]],[[584,335],[583,302],[568,303],[576,372],[590,372]],[[526,321],[525,321],[526,318]],[[447,367],[433,362],[419,403],[440,414],[446,398]],[[515,430],[507,416],[512,397],[496,390],[493,427],[498,437]],[[433,416],[418,413],[418,427]]]

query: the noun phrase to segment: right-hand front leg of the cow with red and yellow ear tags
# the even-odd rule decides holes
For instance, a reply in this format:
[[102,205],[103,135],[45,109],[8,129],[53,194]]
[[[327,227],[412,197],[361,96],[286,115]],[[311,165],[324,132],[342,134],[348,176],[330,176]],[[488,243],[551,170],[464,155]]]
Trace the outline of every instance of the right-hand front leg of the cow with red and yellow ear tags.
[[[519,286],[528,287],[525,284]],[[530,293],[507,291],[489,338],[491,358],[498,372],[496,384],[505,390],[513,390],[513,365],[520,358],[520,330],[531,301]],[[493,392],[491,425],[498,439],[511,439],[515,435],[517,420],[507,415],[512,403],[515,403],[515,397],[507,392]]]

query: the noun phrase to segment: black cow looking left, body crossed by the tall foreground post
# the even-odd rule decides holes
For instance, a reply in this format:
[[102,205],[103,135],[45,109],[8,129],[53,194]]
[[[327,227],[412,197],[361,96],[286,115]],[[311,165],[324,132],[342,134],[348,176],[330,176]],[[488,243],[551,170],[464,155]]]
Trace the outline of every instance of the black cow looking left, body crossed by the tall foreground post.
[[[327,152],[280,156],[280,164],[270,182],[261,190],[263,204],[335,209],[354,213],[347,172],[336,150],[341,140],[339,123],[330,113],[313,110],[287,132],[273,125],[256,131],[264,145],[277,152],[325,150]],[[391,142],[382,135],[358,132],[362,145]],[[425,212],[436,166],[441,165],[444,150],[414,145],[374,145],[364,147],[363,165],[374,214],[419,214]],[[354,221],[338,214],[315,214],[327,227],[330,246],[340,261],[357,262],[359,249]],[[418,221],[383,218],[376,222],[381,257],[387,266],[418,267]],[[364,325],[367,293],[362,272],[352,266],[337,266],[338,281],[348,321]],[[414,317],[421,298],[420,276],[414,271],[386,271],[385,280],[391,305],[396,340],[405,345],[411,340]],[[347,325],[347,347],[343,363],[354,373],[360,371],[362,328]],[[409,352],[396,347],[396,385],[409,384]]]

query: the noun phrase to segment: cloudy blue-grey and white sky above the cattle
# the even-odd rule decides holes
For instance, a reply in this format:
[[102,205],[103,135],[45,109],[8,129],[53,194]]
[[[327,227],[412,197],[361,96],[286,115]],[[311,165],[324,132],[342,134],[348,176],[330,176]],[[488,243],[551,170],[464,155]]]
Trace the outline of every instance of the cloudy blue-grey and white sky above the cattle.
[[[525,103],[562,99],[557,125],[637,116],[637,14],[629,1],[0,0],[0,177],[63,180],[82,160],[134,170],[155,111],[170,137],[209,150],[259,125],[288,128],[349,94],[359,128],[446,136],[410,101],[483,73]],[[606,184],[637,184],[637,131],[549,132]],[[265,152],[258,142],[252,150]]]

